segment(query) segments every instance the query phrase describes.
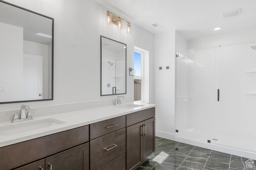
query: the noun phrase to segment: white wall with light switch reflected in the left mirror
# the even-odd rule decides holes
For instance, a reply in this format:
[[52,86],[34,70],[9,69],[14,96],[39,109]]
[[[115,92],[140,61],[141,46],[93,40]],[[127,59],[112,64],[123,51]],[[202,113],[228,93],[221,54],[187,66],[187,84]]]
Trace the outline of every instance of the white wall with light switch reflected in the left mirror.
[[23,28],[0,22],[0,30],[0,102],[23,100]]

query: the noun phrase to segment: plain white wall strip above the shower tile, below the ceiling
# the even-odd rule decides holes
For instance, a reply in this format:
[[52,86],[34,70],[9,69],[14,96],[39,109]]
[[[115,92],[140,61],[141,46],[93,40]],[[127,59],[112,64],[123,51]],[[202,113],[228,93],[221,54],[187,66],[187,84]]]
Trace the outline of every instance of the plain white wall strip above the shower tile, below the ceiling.
[[256,40],[256,28],[188,40],[188,49]]

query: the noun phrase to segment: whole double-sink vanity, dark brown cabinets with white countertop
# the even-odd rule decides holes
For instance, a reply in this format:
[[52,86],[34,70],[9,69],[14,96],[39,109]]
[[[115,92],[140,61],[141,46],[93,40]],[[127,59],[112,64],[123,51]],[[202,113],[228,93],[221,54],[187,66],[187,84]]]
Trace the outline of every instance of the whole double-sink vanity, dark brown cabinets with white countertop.
[[155,154],[155,107],[124,103],[0,123],[0,169],[137,169]]

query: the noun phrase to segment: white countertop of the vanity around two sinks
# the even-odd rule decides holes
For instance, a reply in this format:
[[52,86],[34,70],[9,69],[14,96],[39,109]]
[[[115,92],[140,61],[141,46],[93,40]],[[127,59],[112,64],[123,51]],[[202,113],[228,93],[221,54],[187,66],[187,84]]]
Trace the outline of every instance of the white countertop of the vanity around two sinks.
[[11,120],[10,122],[0,123],[0,130],[1,130],[8,125],[11,125],[9,127],[12,128],[14,126],[21,126],[21,124],[22,126],[27,125],[28,122],[33,122],[33,121],[35,121],[35,123],[41,122],[41,120],[43,121],[44,119],[48,119],[48,120],[56,119],[62,122],[62,124],[39,128],[36,130],[31,129],[27,132],[16,133],[8,136],[0,135],[0,147],[12,145],[14,143],[35,139],[38,137],[62,132],[62,131],[73,129],[76,127],[81,127],[81,126],[89,125],[92,123],[100,122],[103,120],[111,119],[114,117],[156,107],[155,104],[133,103],[133,102],[124,103],[123,105],[120,105],[120,106],[124,106],[128,104],[137,104],[141,106],[132,108],[132,109],[123,109],[123,108],[118,108],[118,106],[111,105],[111,106],[97,107],[97,108],[85,109],[85,110],[79,110],[79,111],[73,111],[73,112],[67,112],[67,113],[59,113],[59,114],[53,114],[48,116],[35,117],[34,120],[19,122],[19,123],[11,123]]

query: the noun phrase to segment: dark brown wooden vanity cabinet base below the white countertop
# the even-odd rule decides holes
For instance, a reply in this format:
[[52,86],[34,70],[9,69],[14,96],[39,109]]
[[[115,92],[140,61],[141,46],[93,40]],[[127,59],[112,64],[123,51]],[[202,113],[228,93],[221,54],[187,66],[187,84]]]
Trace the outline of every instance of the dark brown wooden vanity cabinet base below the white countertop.
[[133,170],[155,154],[155,108],[0,148],[0,170]]

